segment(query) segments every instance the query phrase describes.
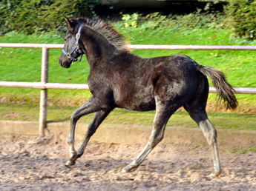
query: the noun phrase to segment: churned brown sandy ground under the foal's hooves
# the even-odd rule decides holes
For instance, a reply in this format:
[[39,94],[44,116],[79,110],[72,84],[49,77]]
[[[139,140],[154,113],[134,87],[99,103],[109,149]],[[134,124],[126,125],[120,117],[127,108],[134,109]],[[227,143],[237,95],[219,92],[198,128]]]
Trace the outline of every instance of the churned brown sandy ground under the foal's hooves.
[[71,168],[68,144],[54,136],[1,138],[0,147],[0,190],[256,190],[256,153],[220,148],[223,173],[211,177],[203,146],[159,144],[130,173],[121,170],[144,145],[91,142]]

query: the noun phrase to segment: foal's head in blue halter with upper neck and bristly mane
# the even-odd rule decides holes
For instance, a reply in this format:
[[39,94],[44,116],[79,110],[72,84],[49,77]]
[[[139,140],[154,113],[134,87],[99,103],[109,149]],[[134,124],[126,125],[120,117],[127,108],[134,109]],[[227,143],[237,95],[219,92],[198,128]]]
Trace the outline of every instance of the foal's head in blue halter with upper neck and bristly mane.
[[[123,36],[106,21],[87,17],[71,20],[65,17],[65,21],[68,24],[68,31],[65,33],[65,44],[62,55],[59,57],[59,64],[62,67],[70,67],[70,64],[77,61],[82,54],[85,54],[93,62],[93,59],[102,58],[103,52],[105,56],[109,56],[110,52],[113,53],[114,50],[130,51],[128,44],[123,41]],[[107,51],[108,53],[106,53]]]

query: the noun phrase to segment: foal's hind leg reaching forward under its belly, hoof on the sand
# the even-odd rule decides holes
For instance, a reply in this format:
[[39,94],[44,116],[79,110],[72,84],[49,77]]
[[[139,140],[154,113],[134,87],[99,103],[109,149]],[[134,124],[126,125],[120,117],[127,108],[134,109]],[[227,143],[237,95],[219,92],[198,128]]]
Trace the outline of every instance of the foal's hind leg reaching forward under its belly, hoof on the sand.
[[165,105],[157,104],[157,113],[154,118],[153,130],[149,138],[148,144],[142,150],[140,155],[128,164],[122,172],[130,172],[131,170],[139,167],[145,157],[154,149],[154,147],[163,139],[165,126],[170,116],[177,110],[177,107],[170,107],[168,110],[165,109]]

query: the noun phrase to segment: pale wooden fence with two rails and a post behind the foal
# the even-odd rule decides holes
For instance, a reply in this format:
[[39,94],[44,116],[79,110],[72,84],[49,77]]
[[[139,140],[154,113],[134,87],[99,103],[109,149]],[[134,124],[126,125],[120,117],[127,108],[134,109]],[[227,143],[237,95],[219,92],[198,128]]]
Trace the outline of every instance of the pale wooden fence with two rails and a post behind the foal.
[[[40,117],[39,135],[45,135],[47,127],[47,89],[73,89],[89,90],[88,84],[60,84],[47,83],[49,49],[62,49],[63,44],[20,44],[20,43],[0,43],[0,47],[14,48],[42,48],[42,70],[41,82],[16,82],[0,81],[0,87],[28,87],[41,89],[40,96]],[[256,50],[256,46],[222,46],[222,45],[128,45],[131,50]],[[256,94],[256,88],[234,87],[236,93]],[[214,87],[209,88],[210,93],[216,93]]]

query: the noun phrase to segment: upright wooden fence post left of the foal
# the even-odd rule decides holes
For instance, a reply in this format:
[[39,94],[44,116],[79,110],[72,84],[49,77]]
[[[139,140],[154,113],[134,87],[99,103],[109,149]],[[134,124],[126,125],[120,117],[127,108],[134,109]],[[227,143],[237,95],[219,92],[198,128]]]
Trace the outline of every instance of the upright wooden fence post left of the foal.
[[[42,69],[41,69],[41,82],[47,83],[48,81],[48,60],[49,49],[42,48]],[[47,89],[41,90],[40,95],[40,116],[39,116],[39,135],[45,136],[45,129],[47,128]]]

